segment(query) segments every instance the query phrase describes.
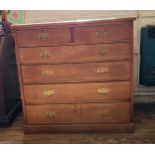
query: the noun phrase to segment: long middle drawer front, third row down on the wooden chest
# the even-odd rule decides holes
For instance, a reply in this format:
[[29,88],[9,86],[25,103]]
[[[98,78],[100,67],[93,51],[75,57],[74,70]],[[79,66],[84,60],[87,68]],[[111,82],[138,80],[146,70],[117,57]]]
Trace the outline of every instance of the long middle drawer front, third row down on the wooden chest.
[[22,66],[23,82],[58,83],[129,80],[129,62]]

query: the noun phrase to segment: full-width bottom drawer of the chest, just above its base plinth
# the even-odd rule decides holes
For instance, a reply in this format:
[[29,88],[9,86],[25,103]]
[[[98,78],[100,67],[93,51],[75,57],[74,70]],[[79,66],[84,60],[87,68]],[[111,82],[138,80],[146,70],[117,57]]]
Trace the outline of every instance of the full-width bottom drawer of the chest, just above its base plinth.
[[27,105],[26,124],[129,123],[128,102]]

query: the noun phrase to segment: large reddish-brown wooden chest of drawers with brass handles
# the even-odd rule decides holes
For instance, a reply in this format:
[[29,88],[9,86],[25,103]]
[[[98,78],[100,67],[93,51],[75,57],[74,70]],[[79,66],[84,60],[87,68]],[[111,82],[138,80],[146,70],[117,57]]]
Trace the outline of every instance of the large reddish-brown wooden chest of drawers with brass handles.
[[12,29],[25,132],[133,131],[133,19]]

